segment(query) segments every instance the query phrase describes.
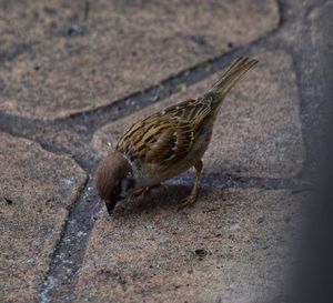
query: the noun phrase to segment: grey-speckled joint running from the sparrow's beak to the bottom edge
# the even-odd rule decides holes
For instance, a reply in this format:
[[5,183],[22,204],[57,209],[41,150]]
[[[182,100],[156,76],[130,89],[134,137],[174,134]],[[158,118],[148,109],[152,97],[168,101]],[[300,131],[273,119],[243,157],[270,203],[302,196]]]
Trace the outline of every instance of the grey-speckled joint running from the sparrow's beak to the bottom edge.
[[[39,303],[71,302],[75,277],[83,260],[90,232],[93,229],[94,213],[101,208],[93,201],[95,196],[91,183],[91,178],[87,178],[74,205],[69,210],[65,224],[51,256],[44,284],[38,295]],[[65,295],[64,301],[58,301],[61,295]]]

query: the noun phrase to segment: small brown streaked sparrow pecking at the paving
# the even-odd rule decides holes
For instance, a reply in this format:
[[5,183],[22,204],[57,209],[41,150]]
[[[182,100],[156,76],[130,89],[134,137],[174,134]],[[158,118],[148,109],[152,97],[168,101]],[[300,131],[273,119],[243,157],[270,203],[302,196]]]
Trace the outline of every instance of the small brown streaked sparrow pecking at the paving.
[[202,97],[140,119],[120,137],[115,149],[100,161],[95,173],[95,188],[109,215],[118,201],[140,195],[192,166],[195,169],[194,186],[178,209],[195,202],[202,156],[221,104],[258,62],[246,57],[235,59]]

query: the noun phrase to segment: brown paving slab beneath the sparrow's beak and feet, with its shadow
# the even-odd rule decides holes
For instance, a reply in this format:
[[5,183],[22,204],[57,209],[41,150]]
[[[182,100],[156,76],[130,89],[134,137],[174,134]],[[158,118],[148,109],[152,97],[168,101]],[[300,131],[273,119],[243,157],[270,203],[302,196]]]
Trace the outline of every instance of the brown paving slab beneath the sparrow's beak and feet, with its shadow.
[[183,188],[162,188],[121,202],[112,219],[103,210],[75,302],[242,303],[283,296],[301,196],[209,189],[194,208],[175,212],[183,194]]

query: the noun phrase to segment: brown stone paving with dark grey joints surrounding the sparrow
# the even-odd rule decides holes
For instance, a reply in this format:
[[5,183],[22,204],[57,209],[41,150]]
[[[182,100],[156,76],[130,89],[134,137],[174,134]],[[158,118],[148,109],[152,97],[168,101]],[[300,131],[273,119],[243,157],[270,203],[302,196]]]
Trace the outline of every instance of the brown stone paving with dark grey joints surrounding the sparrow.
[[[286,300],[332,12],[315,0],[0,1],[0,301]],[[109,219],[100,158],[239,55],[260,64],[225,99],[196,204],[175,211],[186,172]]]

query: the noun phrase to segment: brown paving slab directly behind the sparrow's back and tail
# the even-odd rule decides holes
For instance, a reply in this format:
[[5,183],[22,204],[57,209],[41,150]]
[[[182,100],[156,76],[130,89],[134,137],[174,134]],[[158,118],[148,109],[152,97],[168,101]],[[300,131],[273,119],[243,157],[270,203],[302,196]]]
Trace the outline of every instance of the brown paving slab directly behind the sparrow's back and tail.
[[[260,64],[226,97],[204,156],[205,172],[289,178],[304,159],[295,73],[284,52],[254,52]],[[139,118],[201,95],[218,74],[129,118],[105,125],[92,140],[101,154]]]

